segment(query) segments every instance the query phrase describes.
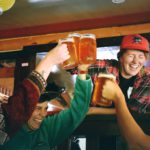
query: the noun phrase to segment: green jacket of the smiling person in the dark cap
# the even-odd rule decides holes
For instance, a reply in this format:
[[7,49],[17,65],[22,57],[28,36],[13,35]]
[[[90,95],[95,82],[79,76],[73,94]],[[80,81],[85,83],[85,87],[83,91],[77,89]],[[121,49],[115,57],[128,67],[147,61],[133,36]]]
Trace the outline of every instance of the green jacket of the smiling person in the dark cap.
[[86,116],[91,99],[91,84],[89,76],[86,80],[77,77],[74,98],[69,109],[46,117],[38,130],[29,131],[24,125],[2,150],[50,150],[62,143]]

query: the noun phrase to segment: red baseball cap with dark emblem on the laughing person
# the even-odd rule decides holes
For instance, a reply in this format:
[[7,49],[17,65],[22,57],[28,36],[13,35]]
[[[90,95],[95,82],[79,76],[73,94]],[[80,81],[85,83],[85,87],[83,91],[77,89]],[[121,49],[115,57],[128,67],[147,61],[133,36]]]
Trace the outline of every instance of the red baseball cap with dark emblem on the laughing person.
[[150,52],[148,40],[139,34],[124,36],[120,48]]

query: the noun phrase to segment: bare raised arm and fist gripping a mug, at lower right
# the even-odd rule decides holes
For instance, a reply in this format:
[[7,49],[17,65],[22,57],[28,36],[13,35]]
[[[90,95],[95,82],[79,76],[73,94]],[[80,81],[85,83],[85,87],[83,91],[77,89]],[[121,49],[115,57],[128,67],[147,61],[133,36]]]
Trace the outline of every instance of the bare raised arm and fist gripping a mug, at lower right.
[[115,81],[106,81],[103,87],[103,97],[114,101],[119,127],[129,149],[149,150],[150,136],[143,132],[130,114],[124,95]]

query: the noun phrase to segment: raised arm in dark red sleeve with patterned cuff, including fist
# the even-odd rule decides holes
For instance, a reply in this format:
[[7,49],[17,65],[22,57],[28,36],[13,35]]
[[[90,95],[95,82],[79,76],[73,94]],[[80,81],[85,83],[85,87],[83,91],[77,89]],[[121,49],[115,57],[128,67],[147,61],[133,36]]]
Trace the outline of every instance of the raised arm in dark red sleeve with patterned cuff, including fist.
[[18,86],[9,98],[8,104],[3,104],[9,125],[9,134],[19,130],[22,124],[30,118],[41,92],[45,89],[46,79],[53,65],[62,63],[69,57],[66,44],[57,45],[48,52],[28,78]]

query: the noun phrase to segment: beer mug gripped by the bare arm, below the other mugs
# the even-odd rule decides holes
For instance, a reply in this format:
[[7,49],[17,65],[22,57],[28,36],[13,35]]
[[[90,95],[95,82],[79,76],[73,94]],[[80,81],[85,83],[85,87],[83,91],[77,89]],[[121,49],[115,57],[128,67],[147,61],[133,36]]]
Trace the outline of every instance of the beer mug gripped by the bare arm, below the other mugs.
[[92,94],[91,104],[92,106],[109,107],[112,105],[112,101],[106,100],[102,97],[102,88],[106,80],[116,80],[113,74],[100,73],[95,80],[94,89]]

